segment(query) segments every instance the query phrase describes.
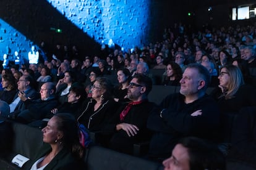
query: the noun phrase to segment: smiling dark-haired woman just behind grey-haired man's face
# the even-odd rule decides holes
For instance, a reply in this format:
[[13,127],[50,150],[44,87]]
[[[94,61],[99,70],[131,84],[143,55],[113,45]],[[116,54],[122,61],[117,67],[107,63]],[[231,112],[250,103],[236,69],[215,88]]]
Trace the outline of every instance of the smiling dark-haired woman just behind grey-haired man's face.
[[166,78],[163,81],[164,86],[180,86],[179,81],[182,77],[181,67],[177,63],[169,62],[166,68]]

